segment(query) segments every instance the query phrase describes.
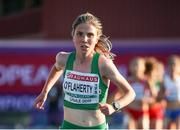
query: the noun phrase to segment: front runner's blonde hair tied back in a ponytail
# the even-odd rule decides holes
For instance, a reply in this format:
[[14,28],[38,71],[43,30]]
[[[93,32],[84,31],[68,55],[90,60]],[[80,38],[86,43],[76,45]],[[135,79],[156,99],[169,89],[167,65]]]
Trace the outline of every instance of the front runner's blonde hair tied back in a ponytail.
[[101,21],[90,13],[84,13],[84,14],[79,15],[72,24],[72,33],[71,33],[72,36],[74,35],[76,27],[81,23],[91,24],[97,29],[97,35],[99,39],[94,50],[106,56],[107,58],[114,59],[115,54],[110,52],[112,49],[112,43],[108,39],[109,37],[106,37],[105,35],[103,35]]

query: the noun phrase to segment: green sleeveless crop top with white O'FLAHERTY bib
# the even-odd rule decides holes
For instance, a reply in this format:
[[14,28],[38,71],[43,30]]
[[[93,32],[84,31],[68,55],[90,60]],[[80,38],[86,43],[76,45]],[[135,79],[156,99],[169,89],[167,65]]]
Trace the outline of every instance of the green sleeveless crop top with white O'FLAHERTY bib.
[[99,56],[98,53],[93,56],[91,73],[83,73],[73,70],[75,52],[69,55],[64,70],[64,106],[81,110],[97,110],[98,103],[106,103],[108,87],[99,72]]

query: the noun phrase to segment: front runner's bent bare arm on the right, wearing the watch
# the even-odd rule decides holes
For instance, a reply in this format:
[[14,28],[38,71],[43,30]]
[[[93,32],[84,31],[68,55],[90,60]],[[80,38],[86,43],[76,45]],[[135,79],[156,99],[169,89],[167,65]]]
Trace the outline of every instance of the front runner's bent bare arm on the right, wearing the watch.
[[[123,91],[123,96],[119,100],[115,101],[120,105],[120,108],[123,108],[130,104],[135,99],[135,92],[128,81],[119,73],[118,69],[112,62],[112,60],[101,57],[100,59],[100,72],[101,76],[107,77],[110,79],[112,83],[114,83],[117,87],[119,92]],[[115,110],[113,109],[112,105],[110,104],[100,104],[100,110],[105,115],[110,115]]]

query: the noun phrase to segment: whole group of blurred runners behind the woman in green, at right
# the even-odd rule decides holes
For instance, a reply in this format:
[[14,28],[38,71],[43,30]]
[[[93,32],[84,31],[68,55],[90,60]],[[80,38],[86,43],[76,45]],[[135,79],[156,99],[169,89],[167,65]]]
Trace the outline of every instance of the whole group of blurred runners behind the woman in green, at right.
[[136,99],[122,110],[123,127],[180,129],[180,56],[171,55],[166,65],[155,57],[136,57],[129,64],[129,72]]

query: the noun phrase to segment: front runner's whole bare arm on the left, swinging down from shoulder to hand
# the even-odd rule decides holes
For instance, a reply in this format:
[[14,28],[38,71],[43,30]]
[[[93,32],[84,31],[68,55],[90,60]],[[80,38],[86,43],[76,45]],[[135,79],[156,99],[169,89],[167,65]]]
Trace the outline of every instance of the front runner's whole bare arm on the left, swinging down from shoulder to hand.
[[47,95],[59,77],[63,74],[66,61],[67,61],[68,53],[59,52],[56,55],[56,63],[51,68],[49,76],[44,84],[44,87],[39,94],[39,96],[35,99],[33,106],[37,109],[44,109],[43,105],[47,99]]

